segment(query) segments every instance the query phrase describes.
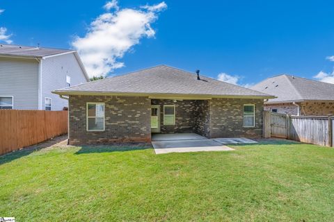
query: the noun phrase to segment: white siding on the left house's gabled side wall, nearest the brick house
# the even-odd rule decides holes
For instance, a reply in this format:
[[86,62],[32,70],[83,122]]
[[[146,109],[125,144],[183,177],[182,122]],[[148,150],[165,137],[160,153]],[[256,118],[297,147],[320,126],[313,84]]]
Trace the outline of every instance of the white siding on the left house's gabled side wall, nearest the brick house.
[[45,108],[45,97],[52,99],[51,110],[63,110],[64,107],[68,107],[66,99],[51,93],[55,89],[68,87],[67,80],[70,80],[71,85],[87,82],[74,53],[54,56],[42,61],[42,108]]

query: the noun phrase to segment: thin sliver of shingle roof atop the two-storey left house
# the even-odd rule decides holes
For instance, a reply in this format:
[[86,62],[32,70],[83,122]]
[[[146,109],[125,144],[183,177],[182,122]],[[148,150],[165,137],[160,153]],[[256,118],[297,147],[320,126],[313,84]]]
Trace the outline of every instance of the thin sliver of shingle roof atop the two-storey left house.
[[59,53],[66,53],[73,50],[69,49],[51,49],[31,46],[19,46],[14,44],[0,44],[1,56],[22,56],[22,57],[38,57],[52,56]]

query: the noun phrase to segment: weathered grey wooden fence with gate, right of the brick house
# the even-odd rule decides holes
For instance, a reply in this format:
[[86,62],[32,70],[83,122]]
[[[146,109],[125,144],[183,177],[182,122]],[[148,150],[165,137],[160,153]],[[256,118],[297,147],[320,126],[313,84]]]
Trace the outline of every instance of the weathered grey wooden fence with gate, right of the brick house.
[[309,144],[333,146],[334,117],[289,116],[264,111],[264,138],[280,137]]

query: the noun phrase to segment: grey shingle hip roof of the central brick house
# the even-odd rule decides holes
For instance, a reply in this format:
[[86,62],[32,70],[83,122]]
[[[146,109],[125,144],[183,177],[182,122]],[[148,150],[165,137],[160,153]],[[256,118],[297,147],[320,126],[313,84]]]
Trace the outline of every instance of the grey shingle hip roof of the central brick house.
[[78,92],[80,94],[100,92],[111,94],[196,94],[203,96],[259,96],[261,98],[272,98],[262,92],[224,83],[205,76],[200,76],[200,80],[197,80],[196,74],[166,65],[58,89],[54,93],[66,95],[78,94]]

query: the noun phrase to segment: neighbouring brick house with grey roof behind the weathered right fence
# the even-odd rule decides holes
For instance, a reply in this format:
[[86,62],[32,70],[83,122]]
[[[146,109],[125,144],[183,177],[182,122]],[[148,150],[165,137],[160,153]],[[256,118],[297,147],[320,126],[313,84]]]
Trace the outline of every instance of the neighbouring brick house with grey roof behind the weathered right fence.
[[276,96],[264,102],[264,110],[301,116],[334,114],[334,85],[289,75],[267,78],[251,87]]

